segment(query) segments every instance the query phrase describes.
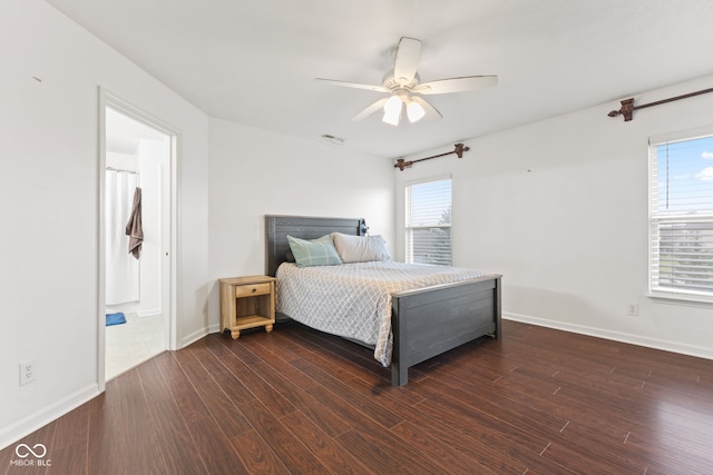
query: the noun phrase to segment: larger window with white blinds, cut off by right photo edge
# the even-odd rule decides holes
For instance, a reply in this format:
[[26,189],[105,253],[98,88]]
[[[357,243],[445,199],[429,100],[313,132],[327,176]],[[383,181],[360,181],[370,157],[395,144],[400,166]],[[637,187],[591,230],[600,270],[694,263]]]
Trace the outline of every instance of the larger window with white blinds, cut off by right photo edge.
[[649,289],[713,299],[713,130],[649,140]]

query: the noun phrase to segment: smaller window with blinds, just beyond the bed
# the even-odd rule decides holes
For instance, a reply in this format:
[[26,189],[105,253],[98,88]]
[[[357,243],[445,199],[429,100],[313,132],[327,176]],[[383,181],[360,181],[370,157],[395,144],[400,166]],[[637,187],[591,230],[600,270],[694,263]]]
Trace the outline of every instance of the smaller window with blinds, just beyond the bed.
[[450,266],[451,180],[406,187],[406,261]]

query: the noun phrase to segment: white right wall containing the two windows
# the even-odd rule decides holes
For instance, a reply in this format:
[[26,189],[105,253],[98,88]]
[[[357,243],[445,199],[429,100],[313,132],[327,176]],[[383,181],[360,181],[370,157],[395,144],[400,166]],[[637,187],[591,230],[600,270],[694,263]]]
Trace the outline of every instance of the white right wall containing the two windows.
[[[712,80],[637,95],[636,103]],[[713,95],[644,109],[629,122],[607,117],[618,108],[617,99],[467,140],[462,159],[397,171],[397,220],[406,181],[450,172],[453,264],[504,275],[506,317],[713,358],[712,306],[646,296],[647,138],[713,125]],[[637,317],[627,316],[629,303]]]

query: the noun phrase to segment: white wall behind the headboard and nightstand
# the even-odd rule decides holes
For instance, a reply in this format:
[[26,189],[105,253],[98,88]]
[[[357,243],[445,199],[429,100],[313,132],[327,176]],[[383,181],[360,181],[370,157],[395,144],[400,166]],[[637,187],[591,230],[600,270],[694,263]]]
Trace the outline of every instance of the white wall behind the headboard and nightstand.
[[[211,119],[211,278],[265,273],[265,215],[362,217],[393,244],[390,160]],[[392,247],[393,249],[393,247]],[[211,327],[218,330],[212,281]]]

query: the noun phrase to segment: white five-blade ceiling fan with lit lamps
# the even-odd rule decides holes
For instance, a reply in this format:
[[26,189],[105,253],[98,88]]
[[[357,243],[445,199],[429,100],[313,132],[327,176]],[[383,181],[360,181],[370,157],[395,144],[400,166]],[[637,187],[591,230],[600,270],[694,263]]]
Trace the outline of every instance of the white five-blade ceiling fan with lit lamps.
[[399,46],[395,50],[393,70],[384,75],[381,86],[324,78],[314,78],[314,80],[334,86],[389,93],[389,97],[379,99],[354,116],[352,120],[361,120],[379,110],[383,110],[382,120],[392,126],[399,125],[403,109],[406,109],[406,115],[410,122],[417,122],[424,117],[427,119],[440,119],[443,117],[420,96],[466,92],[489,88],[498,83],[497,76],[463,76],[421,82],[421,78],[417,71],[420,56],[421,41],[414,38],[403,37],[399,40]]

